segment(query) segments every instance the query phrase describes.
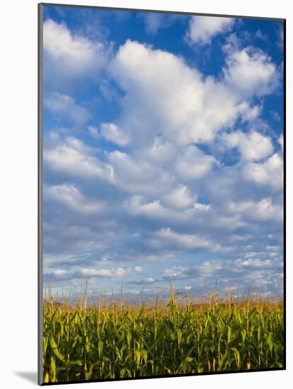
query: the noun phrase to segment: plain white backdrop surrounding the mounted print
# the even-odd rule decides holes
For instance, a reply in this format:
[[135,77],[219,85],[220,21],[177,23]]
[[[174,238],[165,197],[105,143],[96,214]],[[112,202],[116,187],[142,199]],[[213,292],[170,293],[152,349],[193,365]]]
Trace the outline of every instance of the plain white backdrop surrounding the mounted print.
[[[287,18],[287,371],[87,383],[85,388],[282,388],[293,382],[292,1],[71,0],[239,16]],[[0,13],[0,385],[37,385],[37,0],[1,1]],[[290,110],[291,108],[291,110]],[[290,385],[291,381],[291,385]],[[119,386],[118,386],[119,385]],[[60,385],[59,388],[63,388]],[[68,385],[65,386],[68,388]],[[78,386],[80,388],[80,386]]]

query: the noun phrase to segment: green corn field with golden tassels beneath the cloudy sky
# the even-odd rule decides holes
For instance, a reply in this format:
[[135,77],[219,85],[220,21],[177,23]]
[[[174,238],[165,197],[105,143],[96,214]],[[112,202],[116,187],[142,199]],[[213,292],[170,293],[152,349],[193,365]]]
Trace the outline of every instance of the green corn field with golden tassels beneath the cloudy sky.
[[283,305],[262,298],[44,301],[44,383],[282,368]]

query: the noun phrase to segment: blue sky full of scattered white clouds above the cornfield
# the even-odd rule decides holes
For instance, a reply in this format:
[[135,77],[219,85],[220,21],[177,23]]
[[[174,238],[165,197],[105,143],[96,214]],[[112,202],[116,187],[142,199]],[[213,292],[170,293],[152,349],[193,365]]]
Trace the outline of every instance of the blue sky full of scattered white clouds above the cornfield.
[[44,287],[281,293],[282,22],[43,17]]

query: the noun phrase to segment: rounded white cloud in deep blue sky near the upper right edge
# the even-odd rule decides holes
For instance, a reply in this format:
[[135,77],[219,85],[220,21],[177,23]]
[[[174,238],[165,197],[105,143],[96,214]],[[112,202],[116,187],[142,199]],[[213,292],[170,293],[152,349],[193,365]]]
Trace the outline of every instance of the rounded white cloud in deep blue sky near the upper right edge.
[[261,96],[275,89],[279,78],[277,68],[265,52],[253,47],[227,51],[225,82],[235,93]]

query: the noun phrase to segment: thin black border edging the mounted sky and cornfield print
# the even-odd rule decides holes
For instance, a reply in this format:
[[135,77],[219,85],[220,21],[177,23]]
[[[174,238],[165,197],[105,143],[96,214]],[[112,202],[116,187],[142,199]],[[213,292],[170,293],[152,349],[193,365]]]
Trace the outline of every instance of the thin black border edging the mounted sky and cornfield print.
[[[171,13],[179,14],[186,16],[216,16],[219,18],[241,18],[241,19],[256,19],[256,20],[266,20],[266,21],[282,21],[283,31],[284,31],[284,41],[283,41],[283,137],[284,137],[284,168],[283,168],[283,306],[284,306],[284,366],[282,368],[260,368],[260,369],[251,369],[251,370],[236,370],[236,371],[215,371],[215,372],[203,372],[203,373],[186,373],[186,374],[172,374],[164,376],[145,376],[145,377],[130,377],[130,378],[105,378],[97,380],[84,380],[84,381],[64,381],[56,383],[44,383],[43,380],[43,364],[42,364],[42,303],[43,303],[43,191],[42,191],[42,168],[43,168],[43,35],[42,35],[42,26],[43,26],[43,6],[58,6],[65,8],[94,8],[94,9],[104,9],[111,11],[136,11],[136,12],[145,12],[145,13]],[[287,335],[286,335],[286,291],[287,291],[287,274],[286,274],[286,112],[287,112],[287,98],[286,98],[286,18],[269,18],[261,16],[241,16],[241,15],[226,15],[226,14],[217,14],[217,13],[196,13],[196,12],[187,12],[187,11],[166,11],[166,10],[154,10],[154,9],[140,9],[140,8],[119,8],[119,7],[107,7],[107,6],[88,6],[88,5],[79,5],[79,4],[57,4],[57,3],[39,3],[37,4],[37,316],[38,316],[38,328],[37,328],[37,383],[40,386],[46,385],[68,385],[71,383],[94,383],[94,382],[108,382],[108,381],[134,381],[134,380],[148,380],[153,378],[176,378],[176,377],[192,377],[192,376],[217,376],[220,374],[234,374],[234,373],[256,373],[256,372],[265,372],[265,371],[284,371],[286,370],[286,357],[287,357]]]

